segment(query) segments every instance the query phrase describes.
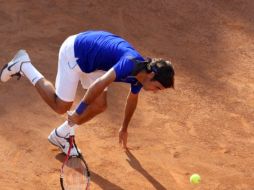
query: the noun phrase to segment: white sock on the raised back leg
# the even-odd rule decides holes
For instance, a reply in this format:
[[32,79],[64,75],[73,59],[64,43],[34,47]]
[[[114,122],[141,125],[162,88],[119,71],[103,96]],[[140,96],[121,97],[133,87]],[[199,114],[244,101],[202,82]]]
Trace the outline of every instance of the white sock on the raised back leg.
[[40,79],[44,78],[44,76],[31,63],[24,63],[21,70],[33,85]]

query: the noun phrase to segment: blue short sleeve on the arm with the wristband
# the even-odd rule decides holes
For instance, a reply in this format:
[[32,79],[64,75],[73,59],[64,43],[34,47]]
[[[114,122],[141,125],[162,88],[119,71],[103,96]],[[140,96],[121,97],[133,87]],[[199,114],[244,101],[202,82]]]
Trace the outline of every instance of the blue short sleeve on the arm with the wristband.
[[134,63],[128,58],[120,59],[114,66],[113,66],[115,73],[116,73],[116,81],[121,81],[125,79],[129,75],[131,75],[134,69]]

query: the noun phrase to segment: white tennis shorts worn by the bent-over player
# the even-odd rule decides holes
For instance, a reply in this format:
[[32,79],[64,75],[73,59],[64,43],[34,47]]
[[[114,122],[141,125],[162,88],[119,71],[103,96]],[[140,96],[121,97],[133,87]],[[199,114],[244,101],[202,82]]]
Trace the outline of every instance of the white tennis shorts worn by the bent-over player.
[[106,71],[102,70],[96,70],[91,73],[81,71],[74,54],[75,38],[76,35],[73,35],[63,42],[58,57],[55,82],[56,95],[65,102],[74,101],[79,81],[84,89],[88,89],[97,78],[106,73]]

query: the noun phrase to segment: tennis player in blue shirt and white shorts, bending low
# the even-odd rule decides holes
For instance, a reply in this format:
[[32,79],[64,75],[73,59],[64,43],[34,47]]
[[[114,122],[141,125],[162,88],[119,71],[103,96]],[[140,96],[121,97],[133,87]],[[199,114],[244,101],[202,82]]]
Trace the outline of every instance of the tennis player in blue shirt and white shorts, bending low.
[[[106,31],[86,31],[68,37],[59,51],[54,85],[31,63],[28,53],[20,50],[1,69],[2,82],[24,75],[35,86],[42,99],[57,113],[70,110],[79,81],[87,89],[83,99],[68,120],[54,129],[48,140],[67,152],[70,127],[81,125],[107,107],[107,88],[112,82],[130,84],[125,114],[119,129],[119,143],[127,148],[127,129],[143,88],[159,91],[174,88],[174,68],[164,59],[145,58],[129,42]],[[76,155],[73,148],[71,155]]]

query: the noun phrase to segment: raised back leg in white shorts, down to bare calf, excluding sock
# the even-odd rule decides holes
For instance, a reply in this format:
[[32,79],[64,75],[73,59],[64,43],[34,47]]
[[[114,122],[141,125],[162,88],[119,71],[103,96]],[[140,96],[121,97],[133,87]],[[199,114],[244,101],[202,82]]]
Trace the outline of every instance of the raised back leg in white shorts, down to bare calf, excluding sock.
[[75,36],[70,36],[60,48],[55,87],[44,79],[35,85],[44,101],[59,114],[72,106],[82,74],[74,55],[74,40]]

